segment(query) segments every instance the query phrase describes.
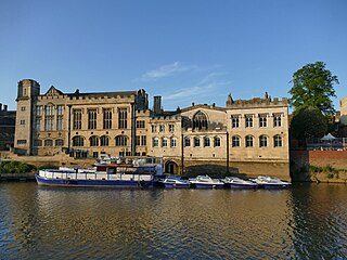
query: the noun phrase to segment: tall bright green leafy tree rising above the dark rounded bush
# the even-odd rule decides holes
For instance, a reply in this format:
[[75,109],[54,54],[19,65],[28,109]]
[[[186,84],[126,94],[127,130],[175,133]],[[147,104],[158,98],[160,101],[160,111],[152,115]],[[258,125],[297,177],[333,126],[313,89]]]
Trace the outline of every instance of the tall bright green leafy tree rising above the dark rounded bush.
[[338,84],[337,76],[325,68],[325,63],[307,64],[293,74],[293,87],[290,90],[291,106],[295,110],[318,108],[325,116],[333,115],[335,109],[331,98],[336,98],[334,83]]

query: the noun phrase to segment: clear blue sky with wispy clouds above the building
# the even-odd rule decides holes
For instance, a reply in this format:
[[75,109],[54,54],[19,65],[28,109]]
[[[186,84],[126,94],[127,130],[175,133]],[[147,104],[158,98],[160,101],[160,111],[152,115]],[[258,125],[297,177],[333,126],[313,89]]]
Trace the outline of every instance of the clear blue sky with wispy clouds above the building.
[[150,106],[224,107],[290,98],[293,74],[322,61],[347,95],[345,0],[1,0],[0,103],[17,82],[41,94],[145,89]]

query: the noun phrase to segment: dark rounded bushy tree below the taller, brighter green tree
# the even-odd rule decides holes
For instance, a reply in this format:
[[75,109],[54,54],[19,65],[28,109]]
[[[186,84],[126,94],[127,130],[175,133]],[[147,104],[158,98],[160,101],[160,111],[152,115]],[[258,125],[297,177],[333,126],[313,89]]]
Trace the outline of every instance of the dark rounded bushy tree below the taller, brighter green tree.
[[326,118],[318,108],[303,108],[294,113],[291,134],[297,140],[322,138],[327,129]]

